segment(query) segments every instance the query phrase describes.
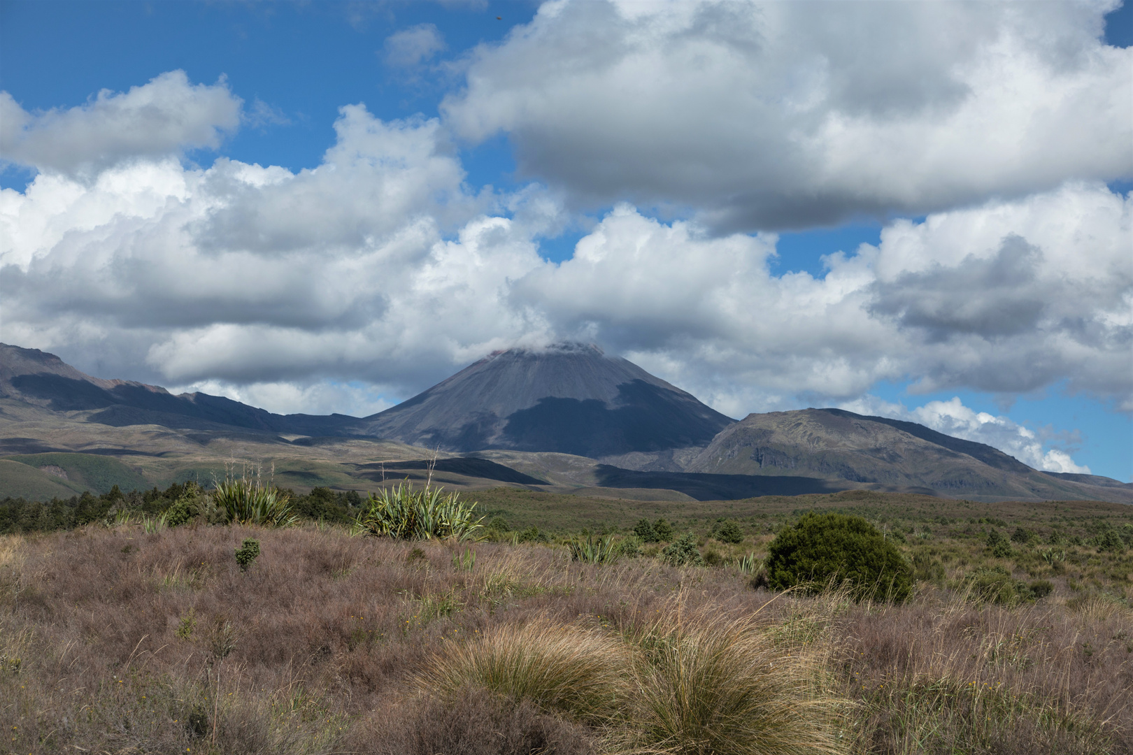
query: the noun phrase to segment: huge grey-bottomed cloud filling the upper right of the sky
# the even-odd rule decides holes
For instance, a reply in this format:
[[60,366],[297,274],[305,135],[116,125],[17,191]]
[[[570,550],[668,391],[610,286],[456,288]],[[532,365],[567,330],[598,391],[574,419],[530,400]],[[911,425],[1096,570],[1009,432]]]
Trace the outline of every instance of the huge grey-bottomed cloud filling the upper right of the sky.
[[579,203],[717,230],[919,215],[1133,175],[1115,2],[556,0],[443,105]]

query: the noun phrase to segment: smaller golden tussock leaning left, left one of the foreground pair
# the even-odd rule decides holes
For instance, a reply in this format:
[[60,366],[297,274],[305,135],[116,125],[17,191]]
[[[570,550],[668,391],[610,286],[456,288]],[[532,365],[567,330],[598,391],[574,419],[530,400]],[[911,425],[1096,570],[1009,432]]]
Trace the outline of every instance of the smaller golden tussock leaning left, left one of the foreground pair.
[[627,649],[616,638],[539,619],[446,646],[417,684],[442,696],[469,685],[484,687],[540,711],[605,723],[621,712],[620,702],[629,694],[629,666]]

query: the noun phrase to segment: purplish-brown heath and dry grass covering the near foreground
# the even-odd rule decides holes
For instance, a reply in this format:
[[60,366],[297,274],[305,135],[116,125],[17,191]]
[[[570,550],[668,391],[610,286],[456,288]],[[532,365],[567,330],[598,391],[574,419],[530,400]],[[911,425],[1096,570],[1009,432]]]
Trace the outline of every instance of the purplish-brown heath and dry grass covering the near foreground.
[[[261,556],[241,572],[245,538]],[[837,593],[765,607],[773,595],[731,568],[485,542],[471,568],[454,565],[468,547],[314,525],[0,539],[0,752],[808,752],[733,744],[729,727],[751,727],[744,711],[770,698],[784,731],[807,721],[853,753],[1133,752],[1127,597],[978,607],[921,590],[900,607]],[[569,658],[556,637],[634,659],[611,683],[632,687],[614,706],[630,713],[493,683],[479,653],[505,657],[505,637],[552,660]],[[415,680],[438,658],[457,659],[451,680],[423,694]],[[610,669],[589,668],[604,689]]]

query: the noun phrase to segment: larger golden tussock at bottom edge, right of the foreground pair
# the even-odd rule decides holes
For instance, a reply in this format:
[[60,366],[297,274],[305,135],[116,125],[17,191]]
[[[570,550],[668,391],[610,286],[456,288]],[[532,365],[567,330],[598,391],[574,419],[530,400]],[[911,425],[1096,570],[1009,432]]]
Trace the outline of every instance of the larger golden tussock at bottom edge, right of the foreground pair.
[[636,640],[634,752],[847,752],[838,724],[849,704],[823,687],[819,660],[784,653],[750,618],[715,624],[674,612]]

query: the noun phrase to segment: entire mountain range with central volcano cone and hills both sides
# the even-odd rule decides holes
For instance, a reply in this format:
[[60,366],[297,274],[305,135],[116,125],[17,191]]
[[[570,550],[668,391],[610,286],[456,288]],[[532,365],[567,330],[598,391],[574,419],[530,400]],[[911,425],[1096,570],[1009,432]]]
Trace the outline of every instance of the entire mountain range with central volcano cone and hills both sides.
[[[156,460],[174,447],[221,444],[215,447],[228,448],[225,457],[255,448],[265,458],[287,449],[299,460],[363,443],[351,452],[352,458],[363,454],[353,471],[337,478],[343,481],[373,478],[366,464],[381,467],[380,458],[391,471],[408,471],[441,454],[445,470],[461,480],[538,487],[551,478],[523,460],[554,456],[564,466],[546,482],[551,487],[658,489],[693,498],[867,488],[983,500],[1133,503],[1131,483],[1040,472],[993,446],[903,420],[807,409],[736,422],[628,360],[577,343],[494,352],[366,418],[273,414],[222,396],[173,395],[160,386],[94,378],[54,354],[0,344],[0,448],[9,455],[80,453],[137,463],[147,457],[155,460],[146,462],[151,466],[167,464]],[[395,455],[366,458],[363,447]],[[501,469],[516,474],[475,461],[482,456],[511,460]],[[288,474],[308,479],[298,469]]]

